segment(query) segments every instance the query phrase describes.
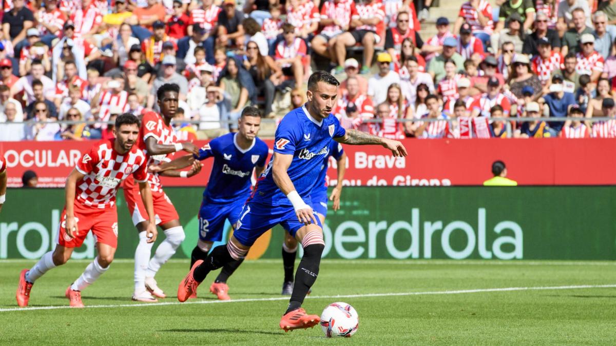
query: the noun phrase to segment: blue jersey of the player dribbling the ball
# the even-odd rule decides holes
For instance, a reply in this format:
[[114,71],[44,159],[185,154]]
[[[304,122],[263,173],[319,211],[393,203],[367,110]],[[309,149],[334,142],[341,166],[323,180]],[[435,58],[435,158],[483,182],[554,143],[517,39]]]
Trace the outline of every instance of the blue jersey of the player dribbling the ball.
[[[290,111],[276,130],[274,153],[293,155],[291,166],[286,171],[299,196],[307,200],[322,171],[323,161],[330,153],[333,138],[346,134],[338,119],[331,115],[317,122],[306,107]],[[253,201],[272,206],[291,206],[291,202],[274,183],[270,160],[267,169],[257,183]]]

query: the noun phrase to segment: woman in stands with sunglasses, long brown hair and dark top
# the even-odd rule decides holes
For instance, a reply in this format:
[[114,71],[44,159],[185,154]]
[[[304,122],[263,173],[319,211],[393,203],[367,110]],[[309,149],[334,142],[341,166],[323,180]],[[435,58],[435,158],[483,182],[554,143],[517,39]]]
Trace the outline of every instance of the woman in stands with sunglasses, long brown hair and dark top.
[[[248,19],[256,22],[253,18]],[[303,42],[303,40],[301,41]],[[246,44],[244,67],[253,78],[257,96],[265,98],[265,116],[267,118],[274,118],[272,105],[274,104],[276,86],[280,84],[280,78],[282,78],[282,70],[280,70],[272,57],[259,53],[259,46],[257,42],[254,41],[250,41]],[[298,81],[298,84],[300,82],[301,81]]]

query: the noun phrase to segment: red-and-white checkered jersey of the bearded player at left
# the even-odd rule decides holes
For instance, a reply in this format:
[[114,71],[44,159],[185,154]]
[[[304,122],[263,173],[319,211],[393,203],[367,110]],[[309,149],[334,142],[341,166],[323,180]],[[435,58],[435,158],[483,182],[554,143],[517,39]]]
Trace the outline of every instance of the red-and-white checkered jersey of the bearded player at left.
[[134,175],[137,182],[148,179],[147,160],[133,145],[128,153],[115,151],[115,139],[101,140],[84,153],[75,169],[85,176],[76,183],[75,201],[97,209],[113,207],[122,181]]

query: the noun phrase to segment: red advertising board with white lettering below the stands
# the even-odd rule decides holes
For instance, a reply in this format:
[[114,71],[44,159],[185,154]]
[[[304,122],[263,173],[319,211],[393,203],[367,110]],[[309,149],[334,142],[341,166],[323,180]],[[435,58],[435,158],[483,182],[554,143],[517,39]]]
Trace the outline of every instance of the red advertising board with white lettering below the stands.
[[[207,141],[198,141],[204,145]],[[272,140],[266,141],[270,147]],[[33,170],[40,187],[62,187],[81,153],[93,142],[0,142],[9,186],[20,187],[23,172]],[[404,142],[409,155],[392,158],[382,147],[345,145],[349,158],[345,185],[480,185],[491,177],[496,159],[521,185],[614,185],[616,140],[487,139]],[[181,155],[181,153],[180,153]],[[212,167],[189,179],[164,178],[165,186],[204,186]],[[330,179],[336,171],[330,168]]]

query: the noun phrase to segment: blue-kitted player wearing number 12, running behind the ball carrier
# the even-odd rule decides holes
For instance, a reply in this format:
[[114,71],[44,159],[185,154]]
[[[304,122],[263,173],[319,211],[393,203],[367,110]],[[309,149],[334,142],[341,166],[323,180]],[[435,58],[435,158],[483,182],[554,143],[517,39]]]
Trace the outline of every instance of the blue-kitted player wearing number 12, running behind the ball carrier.
[[[182,169],[198,159],[214,158],[208,187],[203,191],[199,210],[199,241],[192,251],[190,267],[197,260],[205,260],[214,241],[222,240],[225,220],[232,227],[240,216],[241,208],[250,195],[251,176],[262,174],[267,159],[267,144],[257,138],[261,126],[261,115],[255,107],[246,107],[241,112],[238,132],[211,140],[199,150],[199,155],[186,155],[170,163],[151,167],[152,171]],[[222,267],[209,291],[218,299],[229,300],[227,279],[239,267],[243,259],[234,260]],[[193,298],[197,292],[193,292]]]

